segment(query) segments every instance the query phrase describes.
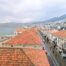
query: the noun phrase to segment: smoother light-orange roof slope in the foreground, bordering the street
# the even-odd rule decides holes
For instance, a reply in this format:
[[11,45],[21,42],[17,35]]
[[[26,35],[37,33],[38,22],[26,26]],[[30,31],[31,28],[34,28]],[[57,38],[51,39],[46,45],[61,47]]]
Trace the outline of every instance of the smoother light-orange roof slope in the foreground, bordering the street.
[[35,66],[50,66],[44,50],[24,49]]

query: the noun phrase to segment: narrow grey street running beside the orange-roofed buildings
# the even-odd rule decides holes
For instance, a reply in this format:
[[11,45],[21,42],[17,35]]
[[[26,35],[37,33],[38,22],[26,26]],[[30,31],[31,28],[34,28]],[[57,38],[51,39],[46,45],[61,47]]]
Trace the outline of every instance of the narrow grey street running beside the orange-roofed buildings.
[[42,35],[40,35],[40,37],[42,39],[42,45],[44,49],[47,51],[47,57],[48,57],[50,66],[60,66],[57,60],[55,59],[55,57],[53,56],[53,54],[51,53],[47,42],[43,39]]

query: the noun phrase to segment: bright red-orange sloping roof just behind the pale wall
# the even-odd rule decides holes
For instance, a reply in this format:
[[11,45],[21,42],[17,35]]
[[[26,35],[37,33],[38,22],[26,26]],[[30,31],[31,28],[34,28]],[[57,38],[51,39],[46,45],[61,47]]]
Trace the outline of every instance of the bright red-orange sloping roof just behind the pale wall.
[[35,29],[25,30],[23,33],[15,36],[6,44],[41,44],[41,39],[38,35],[38,31]]

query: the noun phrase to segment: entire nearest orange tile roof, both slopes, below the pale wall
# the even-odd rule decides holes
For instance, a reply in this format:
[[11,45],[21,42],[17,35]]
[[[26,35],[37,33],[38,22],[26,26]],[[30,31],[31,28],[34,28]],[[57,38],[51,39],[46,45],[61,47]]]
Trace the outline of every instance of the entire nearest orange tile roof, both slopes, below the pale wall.
[[50,66],[45,51],[0,48],[0,66]]

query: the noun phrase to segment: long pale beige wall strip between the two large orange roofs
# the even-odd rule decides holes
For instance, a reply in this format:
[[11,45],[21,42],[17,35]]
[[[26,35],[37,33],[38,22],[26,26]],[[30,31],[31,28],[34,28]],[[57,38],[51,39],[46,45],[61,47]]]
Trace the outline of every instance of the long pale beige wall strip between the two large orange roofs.
[[29,45],[27,45],[27,44],[17,44],[17,45],[1,44],[0,47],[42,49],[41,45],[30,45],[30,44]]

